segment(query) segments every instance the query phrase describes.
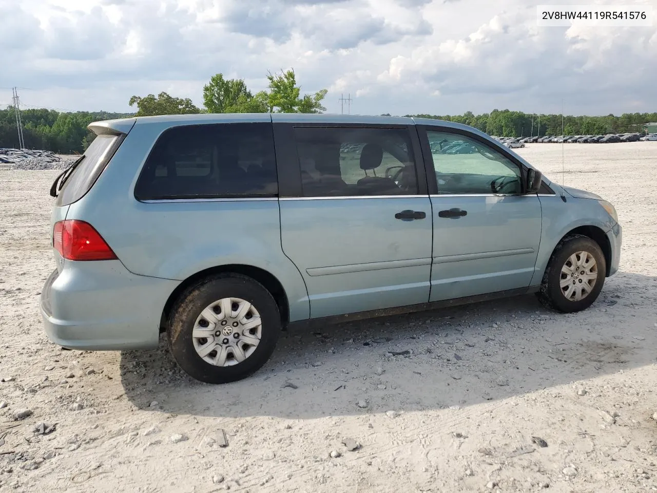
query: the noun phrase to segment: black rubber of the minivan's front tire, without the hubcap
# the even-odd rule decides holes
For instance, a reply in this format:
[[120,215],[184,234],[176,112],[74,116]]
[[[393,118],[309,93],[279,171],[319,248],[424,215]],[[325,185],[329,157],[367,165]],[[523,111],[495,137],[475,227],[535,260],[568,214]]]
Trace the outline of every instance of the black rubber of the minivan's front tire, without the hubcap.
[[[593,291],[588,296],[579,301],[570,301],[561,291],[561,268],[568,260],[568,257],[581,251],[589,252],[595,258],[595,262],[598,264],[598,279],[595,282]],[[606,260],[599,245],[588,237],[573,237],[566,239],[555,249],[553,258],[549,263],[547,279],[545,279],[547,285],[543,287],[542,291],[543,294],[547,295],[550,306],[555,310],[564,313],[579,312],[589,308],[597,300],[600,291],[602,291],[605,277]]]

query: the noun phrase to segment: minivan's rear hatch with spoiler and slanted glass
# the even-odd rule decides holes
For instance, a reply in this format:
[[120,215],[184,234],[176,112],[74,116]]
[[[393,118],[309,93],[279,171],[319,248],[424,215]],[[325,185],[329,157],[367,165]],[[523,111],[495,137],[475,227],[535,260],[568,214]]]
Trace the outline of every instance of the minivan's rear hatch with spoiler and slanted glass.
[[[84,197],[116,153],[136,119],[108,120],[90,124],[87,128],[96,134],[84,154],[66,168],[53,182],[50,195],[56,197],[51,214],[51,238],[57,270],[62,271],[64,258],[54,247],[55,224],[66,220],[70,204]],[[57,239],[61,241],[61,238]]]

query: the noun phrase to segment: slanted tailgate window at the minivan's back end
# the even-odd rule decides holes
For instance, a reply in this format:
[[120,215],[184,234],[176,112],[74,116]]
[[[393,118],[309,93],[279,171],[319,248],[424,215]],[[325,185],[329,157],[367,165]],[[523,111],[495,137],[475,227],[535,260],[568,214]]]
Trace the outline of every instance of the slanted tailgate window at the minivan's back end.
[[83,154],[82,160],[64,182],[64,186],[57,196],[56,205],[72,204],[81,199],[93,187],[116,151],[120,138],[118,135],[101,134],[93,139]]

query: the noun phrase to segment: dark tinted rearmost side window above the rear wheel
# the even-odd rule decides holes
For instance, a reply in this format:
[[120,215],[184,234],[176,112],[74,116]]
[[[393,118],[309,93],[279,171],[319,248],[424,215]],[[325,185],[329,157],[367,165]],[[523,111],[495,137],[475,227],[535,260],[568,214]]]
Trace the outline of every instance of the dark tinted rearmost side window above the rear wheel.
[[137,200],[277,195],[271,123],[170,128],[155,143],[135,185]]

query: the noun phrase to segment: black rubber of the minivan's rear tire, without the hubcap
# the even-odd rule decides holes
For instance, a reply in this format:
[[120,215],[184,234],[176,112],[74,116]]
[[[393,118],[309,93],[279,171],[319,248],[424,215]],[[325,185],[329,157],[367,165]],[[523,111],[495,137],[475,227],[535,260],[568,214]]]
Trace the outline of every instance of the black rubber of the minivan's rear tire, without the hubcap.
[[[205,362],[194,348],[192,329],[207,306],[221,298],[242,298],[250,302],[262,319],[260,343],[246,360],[219,367]],[[228,383],[244,379],[269,360],[281,333],[281,316],[269,291],[242,275],[219,275],[206,279],[181,294],[171,311],[168,336],[177,364],[194,379],[205,383]]]

